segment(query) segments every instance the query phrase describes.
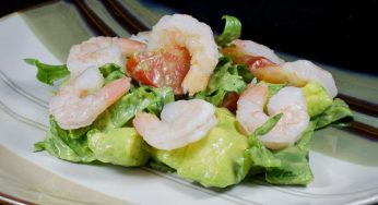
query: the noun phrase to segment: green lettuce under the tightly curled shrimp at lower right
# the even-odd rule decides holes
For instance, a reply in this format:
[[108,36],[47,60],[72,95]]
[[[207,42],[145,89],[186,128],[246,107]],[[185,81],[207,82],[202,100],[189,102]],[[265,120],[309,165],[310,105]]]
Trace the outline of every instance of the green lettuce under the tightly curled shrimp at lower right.
[[276,114],[270,118],[249,136],[248,153],[253,164],[251,174],[263,173],[265,181],[274,184],[308,184],[314,179],[308,164],[308,153],[316,122],[310,122],[294,145],[280,150],[270,150],[258,137],[273,129],[281,117],[282,114]]

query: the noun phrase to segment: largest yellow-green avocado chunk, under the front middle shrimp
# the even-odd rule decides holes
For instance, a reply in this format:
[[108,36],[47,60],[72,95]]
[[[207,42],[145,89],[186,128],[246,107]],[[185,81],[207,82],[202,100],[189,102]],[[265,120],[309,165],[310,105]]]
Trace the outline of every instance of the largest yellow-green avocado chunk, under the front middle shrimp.
[[247,137],[227,109],[217,108],[215,114],[218,123],[203,138],[174,150],[154,149],[154,158],[176,169],[179,177],[204,186],[239,183],[251,167]]

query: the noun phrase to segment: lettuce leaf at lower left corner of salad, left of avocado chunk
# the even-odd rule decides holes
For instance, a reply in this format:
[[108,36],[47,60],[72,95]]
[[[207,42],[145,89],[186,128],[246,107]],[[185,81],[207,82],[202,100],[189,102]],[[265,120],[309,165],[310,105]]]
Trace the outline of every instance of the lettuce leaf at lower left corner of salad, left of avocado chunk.
[[69,131],[61,129],[50,117],[50,130],[44,142],[35,144],[35,152],[46,149],[50,155],[74,162],[91,162],[95,160],[88,148],[86,136],[72,138]]

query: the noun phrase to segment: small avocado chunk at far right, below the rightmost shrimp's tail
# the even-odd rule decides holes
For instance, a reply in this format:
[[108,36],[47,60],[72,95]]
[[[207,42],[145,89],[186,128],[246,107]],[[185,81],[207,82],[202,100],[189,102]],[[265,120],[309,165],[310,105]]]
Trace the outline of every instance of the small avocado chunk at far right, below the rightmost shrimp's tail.
[[302,88],[307,102],[307,112],[310,118],[320,114],[332,105],[332,99],[326,89],[318,83],[308,83]]

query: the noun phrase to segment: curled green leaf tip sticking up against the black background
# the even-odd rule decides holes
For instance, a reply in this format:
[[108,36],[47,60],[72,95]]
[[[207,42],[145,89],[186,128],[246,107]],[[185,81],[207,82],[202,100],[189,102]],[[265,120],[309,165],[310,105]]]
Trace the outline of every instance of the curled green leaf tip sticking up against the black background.
[[223,15],[222,20],[226,20],[226,25],[223,33],[216,38],[220,46],[225,46],[241,35],[241,23],[237,17],[231,15]]

